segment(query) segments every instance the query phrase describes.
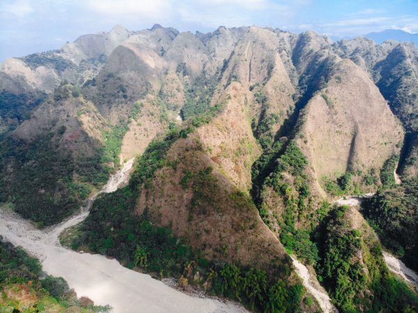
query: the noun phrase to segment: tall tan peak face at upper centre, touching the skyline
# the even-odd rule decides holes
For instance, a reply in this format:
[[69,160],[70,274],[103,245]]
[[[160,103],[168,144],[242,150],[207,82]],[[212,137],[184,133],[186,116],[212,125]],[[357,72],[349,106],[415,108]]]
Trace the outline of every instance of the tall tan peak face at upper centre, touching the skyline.
[[[274,138],[294,109],[295,89],[282,60],[282,57],[286,59],[286,52],[281,45],[280,38],[272,31],[251,26],[231,53],[221,79],[221,86],[237,81],[242,91],[253,94],[248,103],[257,137],[270,135]],[[217,93],[222,91],[219,88]],[[262,128],[263,120],[270,120],[271,125]]]

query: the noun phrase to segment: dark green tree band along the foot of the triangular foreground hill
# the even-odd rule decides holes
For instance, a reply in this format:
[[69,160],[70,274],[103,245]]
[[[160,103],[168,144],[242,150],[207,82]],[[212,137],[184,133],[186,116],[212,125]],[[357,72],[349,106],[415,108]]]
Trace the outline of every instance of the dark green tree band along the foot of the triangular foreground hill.
[[239,300],[254,312],[297,312],[302,286],[274,280],[277,275],[258,268],[208,261],[184,238],[173,236],[169,228],[151,224],[146,214],[136,215],[135,192],[128,186],[98,198],[72,247],[88,245],[93,252],[116,257],[129,268],[136,266],[155,276],[178,277],[183,284],[205,286],[216,295]]

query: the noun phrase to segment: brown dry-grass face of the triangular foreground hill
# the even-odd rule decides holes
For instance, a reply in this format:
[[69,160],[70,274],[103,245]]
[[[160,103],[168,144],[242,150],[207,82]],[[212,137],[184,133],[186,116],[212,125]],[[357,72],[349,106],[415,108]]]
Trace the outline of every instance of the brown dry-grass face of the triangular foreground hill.
[[[157,171],[150,187],[141,192],[137,213],[146,211],[153,222],[171,227],[176,236],[188,237],[210,259],[248,266],[284,261],[283,247],[254,204],[222,174],[196,135],[176,142],[167,161],[176,167]],[[205,176],[208,167],[213,170]],[[192,177],[184,183],[187,174]]]

